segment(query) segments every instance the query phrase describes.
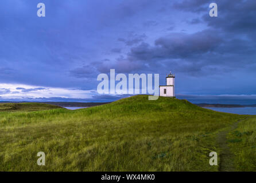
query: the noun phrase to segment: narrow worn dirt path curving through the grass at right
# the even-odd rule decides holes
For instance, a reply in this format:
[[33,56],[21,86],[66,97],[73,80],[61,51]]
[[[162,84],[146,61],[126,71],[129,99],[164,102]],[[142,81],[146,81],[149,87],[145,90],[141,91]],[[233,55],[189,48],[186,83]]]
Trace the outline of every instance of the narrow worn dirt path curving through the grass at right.
[[[245,120],[245,119],[243,119],[243,120]],[[219,157],[220,157],[219,171],[220,172],[234,172],[235,171],[235,167],[233,164],[234,154],[232,154],[230,152],[230,148],[228,147],[227,134],[230,131],[238,128],[239,122],[241,122],[243,120],[236,121],[234,124],[231,125],[230,129],[220,132],[217,136],[217,142],[220,146],[220,149],[222,149],[222,153],[219,155]]]

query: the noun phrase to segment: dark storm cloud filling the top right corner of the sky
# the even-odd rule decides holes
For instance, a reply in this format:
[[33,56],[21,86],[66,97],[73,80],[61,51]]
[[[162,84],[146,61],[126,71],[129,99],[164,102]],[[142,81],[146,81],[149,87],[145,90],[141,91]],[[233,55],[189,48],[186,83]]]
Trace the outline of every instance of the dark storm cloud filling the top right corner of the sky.
[[[218,18],[212,18],[208,15],[210,3],[215,2],[218,5]],[[255,11],[256,1],[237,0],[237,1],[181,1],[173,4],[175,9],[187,12],[202,13],[202,18],[208,26],[215,29],[222,29],[226,33],[233,34],[253,34],[255,35],[256,22]],[[191,22],[197,22],[199,18]],[[236,34],[238,35],[238,34]]]

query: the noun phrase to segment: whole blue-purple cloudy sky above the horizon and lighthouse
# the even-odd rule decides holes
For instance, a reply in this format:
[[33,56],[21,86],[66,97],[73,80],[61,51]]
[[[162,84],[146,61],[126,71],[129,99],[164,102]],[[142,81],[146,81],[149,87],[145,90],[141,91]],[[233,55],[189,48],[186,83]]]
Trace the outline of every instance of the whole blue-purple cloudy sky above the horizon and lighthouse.
[[[98,74],[176,74],[178,98],[256,104],[256,1],[0,2],[0,101],[113,101]],[[209,5],[218,5],[218,17]]]

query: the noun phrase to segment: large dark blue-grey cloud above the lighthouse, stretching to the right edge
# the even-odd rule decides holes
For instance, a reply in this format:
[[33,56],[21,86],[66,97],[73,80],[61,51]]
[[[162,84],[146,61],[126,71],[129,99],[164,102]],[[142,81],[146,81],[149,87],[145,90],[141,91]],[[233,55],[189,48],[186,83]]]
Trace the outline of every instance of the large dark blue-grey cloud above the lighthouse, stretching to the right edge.
[[219,74],[221,72],[217,70],[227,72],[255,63],[255,46],[249,40],[225,38],[222,33],[204,30],[194,34],[176,33],[161,37],[156,39],[154,46],[143,42],[131,48],[128,58],[131,64],[142,61],[152,65],[161,60],[162,65],[172,64],[177,71],[187,74],[191,71]]

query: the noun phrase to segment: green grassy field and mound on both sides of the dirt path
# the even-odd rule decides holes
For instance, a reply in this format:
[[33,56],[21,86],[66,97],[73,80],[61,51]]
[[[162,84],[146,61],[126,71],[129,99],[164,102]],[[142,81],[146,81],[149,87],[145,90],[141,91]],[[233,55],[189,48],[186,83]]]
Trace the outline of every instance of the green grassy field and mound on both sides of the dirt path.
[[[6,104],[0,106],[0,170],[219,171],[209,164],[210,152],[222,153],[218,134],[247,117],[148,96],[73,111]],[[241,142],[232,143],[235,132],[228,134],[236,170],[256,170],[255,119],[239,122]],[[45,153],[45,166],[37,165],[38,152]]]

